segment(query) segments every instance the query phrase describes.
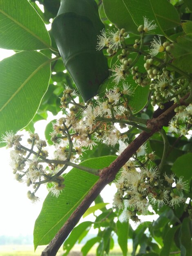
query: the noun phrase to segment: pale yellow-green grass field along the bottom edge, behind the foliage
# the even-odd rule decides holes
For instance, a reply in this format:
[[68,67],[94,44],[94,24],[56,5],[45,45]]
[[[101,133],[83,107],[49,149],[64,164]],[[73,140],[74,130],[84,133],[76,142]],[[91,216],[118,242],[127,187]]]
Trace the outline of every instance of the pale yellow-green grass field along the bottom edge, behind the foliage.
[[[82,245],[75,245],[73,250],[68,254],[69,256],[82,256],[80,249]],[[0,245],[0,256],[40,256],[45,246],[39,246],[34,252],[32,245]],[[89,252],[89,256],[95,255],[96,247],[93,247]],[[62,256],[63,251],[60,249],[57,256]],[[121,249],[117,246],[109,254],[110,256],[122,256]],[[129,256],[129,255],[127,255]]]

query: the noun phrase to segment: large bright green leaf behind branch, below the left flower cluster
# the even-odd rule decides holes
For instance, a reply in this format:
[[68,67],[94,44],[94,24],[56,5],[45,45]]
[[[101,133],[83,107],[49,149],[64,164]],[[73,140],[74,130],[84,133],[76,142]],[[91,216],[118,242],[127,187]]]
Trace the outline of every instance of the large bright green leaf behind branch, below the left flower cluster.
[[[101,169],[109,166],[114,159],[115,156],[92,158],[81,162],[80,165]],[[58,198],[54,198],[50,193],[47,195],[34,227],[35,249],[38,245],[50,242],[97,180],[98,176],[73,168],[65,175],[63,193]]]

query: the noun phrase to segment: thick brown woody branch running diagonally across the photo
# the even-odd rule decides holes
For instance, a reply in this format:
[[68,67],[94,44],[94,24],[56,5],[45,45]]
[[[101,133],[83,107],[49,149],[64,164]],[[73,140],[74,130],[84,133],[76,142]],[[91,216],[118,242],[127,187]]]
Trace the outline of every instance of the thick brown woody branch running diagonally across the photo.
[[[188,94],[189,95],[189,94]],[[184,99],[188,97],[186,95],[180,100],[181,105],[186,105]],[[85,196],[83,201],[79,204],[76,210],[71,214],[69,219],[65,222],[63,227],[58,231],[56,236],[51,240],[49,245],[44,249],[41,256],[56,256],[58,249],[63,244],[67,236],[70,234],[71,230],[80,220],[81,216],[87,211],[92,202],[100,194],[103,188],[115,179],[116,174],[121,169],[121,167],[129,160],[130,157],[140,148],[147,139],[149,139],[155,132],[158,132],[163,126],[167,126],[168,122],[172,117],[174,117],[174,108],[178,106],[174,104],[169,109],[167,109],[163,114],[154,119],[149,119],[147,122],[147,128],[150,132],[141,132],[141,134],[132,141],[129,146],[119,155],[110,166],[103,168],[100,171],[100,179],[93,186],[92,190]]]

